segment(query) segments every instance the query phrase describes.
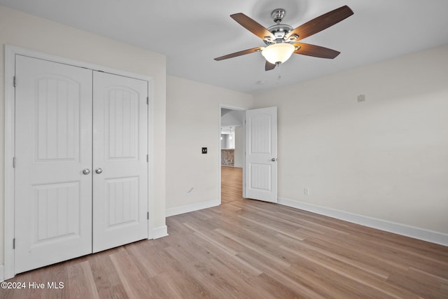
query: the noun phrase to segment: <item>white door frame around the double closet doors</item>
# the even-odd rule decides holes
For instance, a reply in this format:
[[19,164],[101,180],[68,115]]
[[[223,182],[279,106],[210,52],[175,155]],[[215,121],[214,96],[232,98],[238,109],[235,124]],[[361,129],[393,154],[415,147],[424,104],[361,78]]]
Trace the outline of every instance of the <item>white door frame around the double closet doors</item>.
[[[95,71],[104,71],[106,73],[116,74],[119,76],[126,76],[136,78],[148,82],[148,210],[153,211],[153,79],[148,76],[134,74],[119,69],[104,67],[97,64],[90,64],[88,62],[80,62],[78,60],[71,60],[69,58],[60,57],[56,55],[49,55],[46,53],[20,48],[16,46],[5,45],[5,136],[4,136],[4,172],[3,172],[3,189],[4,189],[4,228],[3,228],[3,279],[10,279],[15,276],[14,265],[14,236],[15,236],[15,172],[13,167],[13,159],[15,153],[15,55],[24,55],[41,60],[48,60],[51,62],[58,62],[62,64],[69,64],[74,67],[83,67]],[[221,193],[220,193],[221,194]],[[221,197],[220,197],[221,198]],[[153,228],[151,226],[152,215],[149,213],[148,219],[148,239],[153,239]],[[0,274],[1,275],[1,274]]]

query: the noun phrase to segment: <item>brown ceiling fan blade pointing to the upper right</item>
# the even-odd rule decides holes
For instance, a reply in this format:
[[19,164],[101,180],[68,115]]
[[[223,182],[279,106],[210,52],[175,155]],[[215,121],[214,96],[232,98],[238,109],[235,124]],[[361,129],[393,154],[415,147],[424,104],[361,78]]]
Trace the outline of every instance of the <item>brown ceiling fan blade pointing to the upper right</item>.
[[353,15],[353,11],[351,11],[349,6],[336,8],[334,11],[324,13],[323,15],[293,29],[286,35],[285,39],[289,39],[290,36],[295,34],[299,36],[296,41],[299,41],[300,39],[304,39],[308,36],[321,32],[323,29],[327,29],[328,27],[335,25],[346,18],[349,18],[351,15]]

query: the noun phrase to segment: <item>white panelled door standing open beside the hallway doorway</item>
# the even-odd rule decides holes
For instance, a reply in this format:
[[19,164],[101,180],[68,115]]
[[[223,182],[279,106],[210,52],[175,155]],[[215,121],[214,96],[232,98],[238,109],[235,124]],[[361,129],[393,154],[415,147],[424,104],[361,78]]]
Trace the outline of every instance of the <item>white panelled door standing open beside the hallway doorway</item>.
[[277,109],[246,110],[246,197],[277,202]]

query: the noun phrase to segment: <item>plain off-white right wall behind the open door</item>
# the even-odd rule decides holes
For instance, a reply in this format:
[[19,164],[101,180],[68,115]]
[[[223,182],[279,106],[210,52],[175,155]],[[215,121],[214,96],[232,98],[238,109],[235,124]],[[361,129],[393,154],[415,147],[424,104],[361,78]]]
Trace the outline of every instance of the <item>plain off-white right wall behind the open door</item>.
[[448,234],[448,46],[254,104],[278,107],[279,197]]

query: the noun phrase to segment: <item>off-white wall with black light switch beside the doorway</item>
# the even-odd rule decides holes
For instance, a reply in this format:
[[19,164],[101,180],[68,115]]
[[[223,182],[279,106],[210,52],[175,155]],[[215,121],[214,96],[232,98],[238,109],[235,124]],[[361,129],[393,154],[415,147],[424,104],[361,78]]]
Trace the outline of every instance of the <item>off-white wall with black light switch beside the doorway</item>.
[[220,104],[249,109],[253,96],[167,76],[167,215],[219,204]]

